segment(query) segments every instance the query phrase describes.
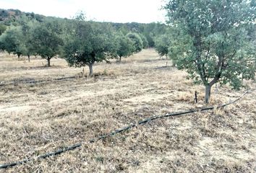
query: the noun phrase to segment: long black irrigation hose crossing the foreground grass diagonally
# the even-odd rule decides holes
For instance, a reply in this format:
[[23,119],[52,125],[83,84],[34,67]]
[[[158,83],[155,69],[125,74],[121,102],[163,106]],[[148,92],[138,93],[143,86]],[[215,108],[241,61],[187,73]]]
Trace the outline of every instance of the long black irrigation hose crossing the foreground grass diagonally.
[[[131,128],[137,127],[137,125],[142,125],[142,124],[148,123],[148,122],[150,122],[152,120],[156,120],[156,119],[159,119],[159,118],[174,117],[174,116],[179,116],[179,115],[187,115],[187,114],[193,113],[193,112],[200,112],[200,111],[205,111],[205,110],[214,110],[214,109],[226,107],[227,105],[231,105],[232,103],[234,103],[234,102],[238,101],[239,99],[241,99],[242,97],[244,97],[244,95],[247,94],[248,92],[249,92],[249,90],[247,92],[244,92],[244,94],[242,94],[239,98],[234,99],[232,102],[229,102],[229,103],[224,104],[224,105],[219,105],[218,107],[205,107],[205,108],[202,108],[202,109],[199,109],[199,110],[188,110],[186,112],[174,112],[174,113],[167,113],[166,115],[152,116],[152,117],[149,117],[149,118],[147,118],[145,120],[138,121],[137,124],[128,125],[128,126],[126,126],[124,128],[121,128],[119,130],[115,130],[115,131],[113,131],[111,133],[108,133],[108,134],[106,134],[104,136],[98,136],[98,138],[91,139],[89,141],[89,143],[94,143],[94,142],[99,141],[101,139],[108,138],[110,136],[114,136],[117,133],[122,133],[122,132],[124,132],[126,130],[129,130]],[[35,161],[37,159],[46,159],[49,156],[56,156],[58,154],[62,154],[64,152],[66,152],[66,151],[70,151],[70,150],[74,150],[75,148],[79,148],[80,146],[82,146],[82,143],[76,143],[76,144],[74,144],[72,146],[67,146],[67,147],[64,147],[64,148],[60,148],[57,151],[53,151],[53,152],[46,153],[46,154],[41,154],[40,156],[37,156],[35,158],[23,159],[22,161],[16,161],[16,162],[12,162],[12,163],[9,163],[9,164],[0,164],[0,169],[6,169],[6,168],[9,168],[9,167],[14,167],[16,165],[25,164],[25,163],[27,163],[29,161]]]

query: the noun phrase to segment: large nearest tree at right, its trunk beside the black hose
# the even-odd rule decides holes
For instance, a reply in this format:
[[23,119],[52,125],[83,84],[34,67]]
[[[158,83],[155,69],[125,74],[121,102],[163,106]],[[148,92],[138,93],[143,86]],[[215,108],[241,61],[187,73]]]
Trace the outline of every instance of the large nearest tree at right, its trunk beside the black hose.
[[235,89],[255,77],[255,45],[247,27],[255,27],[254,1],[171,0],[166,4],[175,41],[170,57],[179,69],[205,85],[205,103],[216,82]]

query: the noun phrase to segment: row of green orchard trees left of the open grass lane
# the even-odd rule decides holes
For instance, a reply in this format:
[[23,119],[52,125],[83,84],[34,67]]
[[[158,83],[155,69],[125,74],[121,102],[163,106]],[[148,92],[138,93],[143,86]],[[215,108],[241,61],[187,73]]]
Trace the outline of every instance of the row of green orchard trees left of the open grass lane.
[[69,66],[89,66],[110,58],[131,56],[148,47],[144,35],[128,32],[124,35],[110,24],[85,22],[84,17],[59,22],[48,19],[44,22],[23,21],[11,26],[0,36],[0,49],[20,56],[40,56],[51,66],[51,58],[65,58]]

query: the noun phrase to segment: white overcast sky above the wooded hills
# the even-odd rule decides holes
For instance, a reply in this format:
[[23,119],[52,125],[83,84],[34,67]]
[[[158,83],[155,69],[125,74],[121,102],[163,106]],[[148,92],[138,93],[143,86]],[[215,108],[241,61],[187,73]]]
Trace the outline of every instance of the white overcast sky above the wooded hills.
[[1,9],[67,18],[82,11],[99,22],[164,22],[164,4],[164,0],[0,0]]

